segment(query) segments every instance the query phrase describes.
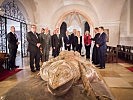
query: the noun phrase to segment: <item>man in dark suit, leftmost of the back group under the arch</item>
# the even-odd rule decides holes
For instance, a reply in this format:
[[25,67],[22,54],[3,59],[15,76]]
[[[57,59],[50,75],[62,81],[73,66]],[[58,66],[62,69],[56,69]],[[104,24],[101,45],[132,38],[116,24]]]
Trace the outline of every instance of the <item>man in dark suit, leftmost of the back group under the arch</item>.
[[64,44],[65,44],[65,50],[70,51],[71,48],[71,39],[70,39],[69,32],[66,31],[66,35],[64,36]]

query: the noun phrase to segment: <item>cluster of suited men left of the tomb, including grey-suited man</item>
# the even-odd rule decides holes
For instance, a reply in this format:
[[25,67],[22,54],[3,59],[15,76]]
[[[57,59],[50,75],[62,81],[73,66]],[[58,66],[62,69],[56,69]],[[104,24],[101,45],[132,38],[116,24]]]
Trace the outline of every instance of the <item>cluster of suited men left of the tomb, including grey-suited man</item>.
[[27,33],[30,68],[32,72],[40,70],[40,59],[42,62],[48,61],[51,49],[52,55],[56,57],[59,55],[62,48],[62,38],[59,34],[59,28],[54,30],[52,36],[50,35],[48,27],[45,29],[42,28],[39,34],[36,32],[36,29],[36,25],[31,25],[31,31]]

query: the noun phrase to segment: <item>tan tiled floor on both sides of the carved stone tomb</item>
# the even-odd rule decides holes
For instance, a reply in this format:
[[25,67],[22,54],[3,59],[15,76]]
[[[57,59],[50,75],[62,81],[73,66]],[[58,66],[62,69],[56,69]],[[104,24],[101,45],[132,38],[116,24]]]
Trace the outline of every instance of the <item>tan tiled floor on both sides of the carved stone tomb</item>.
[[[25,78],[36,76],[38,73],[30,71],[29,58],[24,58],[22,64],[22,60],[18,57],[16,63],[23,70],[0,82],[0,100],[2,100],[3,94],[16,84]],[[107,63],[106,69],[98,69],[116,100],[133,100],[133,72],[125,68],[130,66],[133,66],[133,64]]]

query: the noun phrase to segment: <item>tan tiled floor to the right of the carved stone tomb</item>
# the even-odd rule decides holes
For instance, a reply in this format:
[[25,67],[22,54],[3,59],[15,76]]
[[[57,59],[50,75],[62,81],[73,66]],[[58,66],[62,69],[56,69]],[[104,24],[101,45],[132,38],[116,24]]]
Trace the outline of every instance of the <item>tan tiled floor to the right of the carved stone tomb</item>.
[[133,100],[133,72],[125,67],[129,63],[107,63],[106,69],[100,70],[106,84],[117,100]]

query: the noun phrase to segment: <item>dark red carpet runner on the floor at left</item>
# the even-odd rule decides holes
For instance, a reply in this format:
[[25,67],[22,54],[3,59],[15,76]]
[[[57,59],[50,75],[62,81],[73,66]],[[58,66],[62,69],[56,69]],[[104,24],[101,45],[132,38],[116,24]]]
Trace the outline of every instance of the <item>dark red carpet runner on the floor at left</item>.
[[2,72],[0,72],[0,81],[3,81],[4,79],[8,78],[9,76],[16,74],[17,72],[19,72],[21,70],[22,69],[17,69],[17,68],[12,70],[12,71],[3,70]]

